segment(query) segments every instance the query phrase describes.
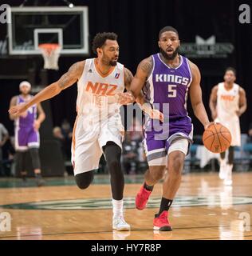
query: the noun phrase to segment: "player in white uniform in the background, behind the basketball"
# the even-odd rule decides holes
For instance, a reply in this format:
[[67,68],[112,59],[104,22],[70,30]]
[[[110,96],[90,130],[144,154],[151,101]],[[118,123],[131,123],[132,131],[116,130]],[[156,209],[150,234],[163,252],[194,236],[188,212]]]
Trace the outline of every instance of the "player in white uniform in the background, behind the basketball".
[[223,179],[227,186],[232,185],[234,146],[241,146],[239,117],[246,111],[245,90],[234,83],[235,79],[236,71],[234,68],[227,68],[224,82],[213,87],[209,104],[213,120],[226,126],[232,136],[228,149],[228,160],[226,161],[226,152],[220,154],[219,178]]

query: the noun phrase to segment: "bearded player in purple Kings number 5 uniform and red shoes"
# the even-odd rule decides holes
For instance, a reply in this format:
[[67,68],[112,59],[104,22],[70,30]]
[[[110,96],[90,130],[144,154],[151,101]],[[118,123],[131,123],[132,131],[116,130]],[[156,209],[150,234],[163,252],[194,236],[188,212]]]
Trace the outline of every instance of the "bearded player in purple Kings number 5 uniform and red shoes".
[[[160,30],[160,53],[140,62],[130,86],[131,94],[145,112],[150,113],[152,109],[161,112],[159,119],[162,122],[147,118],[144,125],[144,147],[149,170],[144,174],[144,185],[136,196],[136,208],[144,210],[153,186],[163,178],[167,163],[168,174],[163,181],[159,213],[153,222],[154,230],[161,231],[172,230],[167,219],[168,210],[179,189],[183,162],[192,142],[193,126],[187,115],[188,92],[195,116],[205,129],[210,125],[202,102],[199,69],[178,54],[179,43],[175,28],[166,26]],[[142,89],[144,102],[147,102],[144,105],[137,98]],[[120,101],[129,103],[128,97],[125,95]],[[156,129],[159,126],[162,130]]]

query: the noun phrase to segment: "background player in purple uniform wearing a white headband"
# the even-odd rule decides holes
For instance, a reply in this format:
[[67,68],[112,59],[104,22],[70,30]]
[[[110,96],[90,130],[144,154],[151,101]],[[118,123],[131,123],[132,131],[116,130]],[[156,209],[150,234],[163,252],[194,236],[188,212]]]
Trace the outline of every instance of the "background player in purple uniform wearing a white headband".
[[[20,95],[11,98],[10,107],[18,104],[26,103],[33,96],[30,95],[30,82],[23,81],[19,85]],[[37,115],[38,114],[38,115]],[[31,106],[22,114],[10,114],[10,119],[14,120],[15,126],[15,150],[17,173],[22,175],[26,181],[26,153],[30,151],[33,170],[37,178],[37,186],[43,185],[41,178],[41,163],[38,154],[39,149],[39,133],[38,130],[41,122],[45,120],[45,113],[41,104]]]

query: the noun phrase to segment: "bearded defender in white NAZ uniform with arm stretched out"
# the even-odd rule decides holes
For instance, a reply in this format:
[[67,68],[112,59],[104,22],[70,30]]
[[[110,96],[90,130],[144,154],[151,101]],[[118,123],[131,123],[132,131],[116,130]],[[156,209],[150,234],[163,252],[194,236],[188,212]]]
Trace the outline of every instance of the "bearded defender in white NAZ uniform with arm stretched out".
[[[53,98],[77,82],[77,118],[73,128],[72,163],[77,186],[86,189],[93,181],[104,154],[111,175],[113,229],[130,230],[124,221],[124,174],[120,166],[123,127],[118,98],[132,82],[132,73],[117,62],[119,46],[114,33],[98,33],[93,39],[97,58],[76,62],[57,82],[45,87],[24,105],[9,112],[21,114],[33,104]],[[100,191],[102,193],[102,191]]]

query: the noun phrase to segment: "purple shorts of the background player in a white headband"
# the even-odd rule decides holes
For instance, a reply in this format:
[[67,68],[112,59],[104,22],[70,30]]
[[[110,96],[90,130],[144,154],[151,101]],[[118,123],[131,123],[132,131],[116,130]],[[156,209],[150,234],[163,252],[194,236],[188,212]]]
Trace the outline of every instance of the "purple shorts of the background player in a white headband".
[[27,150],[30,147],[39,148],[39,133],[33,127],[16,127],[15,149]]

